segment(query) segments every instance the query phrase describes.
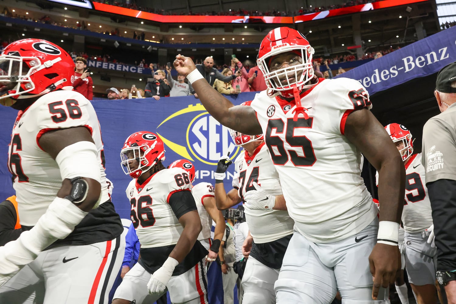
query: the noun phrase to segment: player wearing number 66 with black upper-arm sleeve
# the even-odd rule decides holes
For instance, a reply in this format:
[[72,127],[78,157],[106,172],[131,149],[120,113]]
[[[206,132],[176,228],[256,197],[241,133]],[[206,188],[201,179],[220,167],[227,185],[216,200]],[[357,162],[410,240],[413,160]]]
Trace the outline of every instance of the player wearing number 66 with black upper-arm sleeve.
[[125,274],[113,304],[142,303],[147,294],[155,301],[166,289],[172,303],[207,304],[207,250],[197,241],[202,227],[187,170],[166,169],[163,141],[147,131],[131,134],[120,157],[133,178],[125,192],[141,258]]

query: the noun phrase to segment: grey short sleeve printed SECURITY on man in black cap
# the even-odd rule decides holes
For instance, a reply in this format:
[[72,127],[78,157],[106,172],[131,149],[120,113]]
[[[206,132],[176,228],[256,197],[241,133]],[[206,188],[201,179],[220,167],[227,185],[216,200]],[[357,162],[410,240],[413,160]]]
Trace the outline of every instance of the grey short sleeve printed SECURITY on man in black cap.
[[456,180],[456,139],[452,134],[451,126],[441,119],[431,118],[425,124],[421,162],[426,170],[426,184],[440,179]]

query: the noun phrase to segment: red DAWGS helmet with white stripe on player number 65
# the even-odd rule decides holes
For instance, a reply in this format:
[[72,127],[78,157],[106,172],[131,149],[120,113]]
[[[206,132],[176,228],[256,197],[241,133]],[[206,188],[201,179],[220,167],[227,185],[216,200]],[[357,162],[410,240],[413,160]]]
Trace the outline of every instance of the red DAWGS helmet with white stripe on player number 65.
[[[296,52],[301,58],[302,63],[291,65],[273,72],[269,71],[269,63],[271,59],[285,52]],[[314,77],[312,67],[313,47],[309,41],[299,31],[289,27],[277,27],[270,31],[259,47],[258,67],[264,74],[266,85],[272,93],[280,93],[285,97],[293,96],[293,88],[296,87],[301,92],[304,85]],[[299,75],[302,73],[301,75]],[[294,78],[294,80],[290,80]],[[280,80],[286,79],[286,83],[282,84]],[[288,92],[289,91],[289,92]],[[271,95],[271,93],[268,93]]]

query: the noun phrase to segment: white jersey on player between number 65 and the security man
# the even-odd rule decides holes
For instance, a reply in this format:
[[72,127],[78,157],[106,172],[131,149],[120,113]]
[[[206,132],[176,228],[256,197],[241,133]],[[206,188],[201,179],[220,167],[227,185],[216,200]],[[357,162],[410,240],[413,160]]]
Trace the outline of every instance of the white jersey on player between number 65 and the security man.
[[[378,172],[375,174],[378,185]],[[404,230],[422,232],[432,225],[432,210],[425,184],[425,168],[421,165],[421,153],[410,156],[405,164],[405,197],[402,210]]]

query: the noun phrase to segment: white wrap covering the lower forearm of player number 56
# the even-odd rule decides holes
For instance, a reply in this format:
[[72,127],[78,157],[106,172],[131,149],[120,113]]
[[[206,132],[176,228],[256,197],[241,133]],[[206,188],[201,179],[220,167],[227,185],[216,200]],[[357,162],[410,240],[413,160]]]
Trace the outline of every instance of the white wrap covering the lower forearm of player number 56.
[[16,241],[4,247],[5,258],[10,263],[0,265],[0,273],[12,273],[15,268],[33,261],[38,254],[57,239],[67,237],[82,221],[87,212],[67,199],[56,197],[36,225],[21,233]]

